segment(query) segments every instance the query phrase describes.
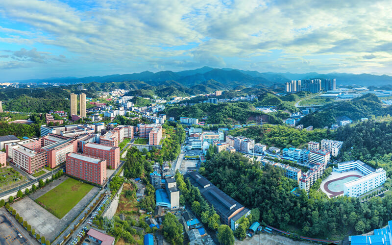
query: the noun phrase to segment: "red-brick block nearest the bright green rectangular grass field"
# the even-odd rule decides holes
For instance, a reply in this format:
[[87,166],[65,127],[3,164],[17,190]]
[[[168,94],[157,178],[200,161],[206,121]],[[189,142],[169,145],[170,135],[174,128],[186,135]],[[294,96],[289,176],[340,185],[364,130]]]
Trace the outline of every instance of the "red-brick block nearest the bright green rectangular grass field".
[[98,185],[105,182],[106,160],[73,152],[68,153],[66,159],[67,174]]

